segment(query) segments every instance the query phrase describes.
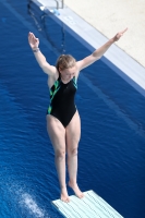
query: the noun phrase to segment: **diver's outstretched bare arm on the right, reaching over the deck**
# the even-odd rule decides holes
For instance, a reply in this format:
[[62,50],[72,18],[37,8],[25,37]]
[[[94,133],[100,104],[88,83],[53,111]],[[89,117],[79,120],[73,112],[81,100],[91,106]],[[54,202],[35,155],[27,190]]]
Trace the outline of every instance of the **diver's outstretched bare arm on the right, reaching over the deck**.
[[94,63],[95,61],[97,61],[98,59],[100,59],[104,53],[110,48],[110,46],[114,43],[118,41],[120,39],[121,36],[123,36],[123,34],[128,31],[128,28],[125,28],[122,32],[119,32],[114,37],[112,37],[111,39],[109,39],[105,45],[102,45],[100,48],[96,49],[90,56],[84,58],[81,61],[76,62],[76,65],[78,68],[78,71],[81,71],[82,69],[90,65],[92,63]]

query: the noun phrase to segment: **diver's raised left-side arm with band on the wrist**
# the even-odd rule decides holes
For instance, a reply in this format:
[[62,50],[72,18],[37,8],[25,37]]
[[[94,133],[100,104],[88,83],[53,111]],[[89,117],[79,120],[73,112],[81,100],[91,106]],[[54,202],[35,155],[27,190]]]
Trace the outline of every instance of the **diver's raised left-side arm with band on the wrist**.
[[39,66],[43,69],[43,71],[45,73],[47,73],[48,75],[55,75],[57,72],[57,69],[47,62],[45,56],[41,53],[41,51],[38,48],[39,39],[36,38],[35,35],[31,32],[28,33],[28,43],[29,43],[29,46],[34,52],[34,56],[35,56]]

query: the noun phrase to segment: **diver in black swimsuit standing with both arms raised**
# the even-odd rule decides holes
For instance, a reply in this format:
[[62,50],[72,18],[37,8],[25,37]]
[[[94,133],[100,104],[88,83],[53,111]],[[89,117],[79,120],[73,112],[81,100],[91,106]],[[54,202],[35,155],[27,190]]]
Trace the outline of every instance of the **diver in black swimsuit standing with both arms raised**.
[[60,56],[56,66],[46,61],[38,48],[39,39],[33,33],[28,33],[28,43],[34,56],[43,71],[48,74],[50,106],[47,110],[47,131],[55,149],[55,162],[61,190],[60,198],[65,203],[70,201],[65,184],[65,154],[68,154],[69,186],[73,189],[77,197],[83,197],[76,182],[81,120],[74,104],[80,71],[100,59],[126,29],[118,33],[83,60],[76,61],[70,55]]

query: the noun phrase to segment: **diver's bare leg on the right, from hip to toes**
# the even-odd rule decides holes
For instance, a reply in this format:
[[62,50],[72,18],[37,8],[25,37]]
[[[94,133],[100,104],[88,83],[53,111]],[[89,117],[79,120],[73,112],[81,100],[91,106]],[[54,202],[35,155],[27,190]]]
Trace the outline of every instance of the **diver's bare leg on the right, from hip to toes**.
[[71,186],[75,195],[80,198],[84,194],[78,189],[77,178],[77,146],[81,136],[81,121],[78,112],[76,111],[73,119],[67,126],[67,148],[68,148],[68,170],[69,170],[69,186]]

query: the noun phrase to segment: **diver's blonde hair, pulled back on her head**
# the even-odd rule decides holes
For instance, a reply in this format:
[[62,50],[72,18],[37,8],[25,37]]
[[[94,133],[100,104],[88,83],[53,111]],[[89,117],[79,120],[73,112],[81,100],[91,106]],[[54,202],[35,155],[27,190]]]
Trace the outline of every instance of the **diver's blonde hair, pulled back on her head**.
[[61,55],[56,63],[56,68],[59,71],[59,68],[61,70],[65,70],[69,68],[73,68],[75,65],[75,59],[71,55]]

